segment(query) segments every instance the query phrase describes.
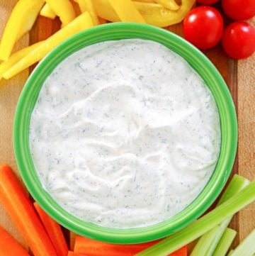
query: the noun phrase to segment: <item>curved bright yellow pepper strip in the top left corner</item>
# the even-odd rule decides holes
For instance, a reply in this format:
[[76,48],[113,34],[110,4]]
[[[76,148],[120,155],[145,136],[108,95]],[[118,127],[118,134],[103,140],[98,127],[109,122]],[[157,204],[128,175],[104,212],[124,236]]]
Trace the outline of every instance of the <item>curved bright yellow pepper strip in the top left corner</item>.
[[44,2],[44,0],[17,2],[4,28],[0,44],[0,60],[8,60],[16,41],[32,28]]

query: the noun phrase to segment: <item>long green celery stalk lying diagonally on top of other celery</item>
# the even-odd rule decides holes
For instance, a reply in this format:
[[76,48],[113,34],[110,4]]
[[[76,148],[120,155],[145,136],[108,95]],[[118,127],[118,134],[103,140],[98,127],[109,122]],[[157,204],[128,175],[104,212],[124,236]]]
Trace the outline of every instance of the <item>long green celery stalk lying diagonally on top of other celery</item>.
[[216,225],[255,200],[255,179],[236,196],[230,197],[205,216],[186,226],[168,238],[138,253],[137,256],[164,256],[191,243]]

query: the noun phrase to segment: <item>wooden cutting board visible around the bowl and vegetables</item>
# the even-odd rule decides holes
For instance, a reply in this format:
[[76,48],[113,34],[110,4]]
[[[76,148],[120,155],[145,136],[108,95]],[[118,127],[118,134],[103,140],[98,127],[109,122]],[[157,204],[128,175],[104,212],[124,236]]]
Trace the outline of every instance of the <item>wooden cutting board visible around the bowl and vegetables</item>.
[[[13,9],[16,0],[0,1],[0,38],[6,20]],[[255,18],[252,21],[255,26]],[[60,28],[60,21],[52,21],[47,18],[39,17],[35,26],[29,35],[25,35],[17,44],[15,50],[23,48],[26,45],[43,40]],[[181,25],[171,26],[169,30],[182,35]],[[246,60],[230,60],[220,45],[212,50],[205,51],[210,60],[219,69],[222,77],[225,79],[232,94],[234,104],[237,109],[238,128],[239,128],[239,145],[237,158],[234,164],[232,175],[241,174],[248,179],[254,179],[255,173],[255,54]],[[15,157],[13,155],[13,114],[29,72],[33,69],[26,70],[8,81],[0,81],[0,165],[8,163],[18,174]],[[0,202],[0,225],[11,233],[24,247],[28,249],[22,235],[18,233],[15,226],[4,211]],[[244,208],[234,216],[232,228],[238,231],[237,238],[234,240],[233,247],[241,241],[252,229],[255,228],[255,204]]]

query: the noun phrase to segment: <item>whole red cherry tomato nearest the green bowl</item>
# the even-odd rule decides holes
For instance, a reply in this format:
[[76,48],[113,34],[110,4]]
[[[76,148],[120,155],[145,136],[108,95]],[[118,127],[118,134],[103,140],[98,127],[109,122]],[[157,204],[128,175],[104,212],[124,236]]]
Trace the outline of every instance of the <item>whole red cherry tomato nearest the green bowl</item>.
[[219,11],[210,6],[199,6],[192,9],[183,21],[184,37],[202,50],[217,45],[222,31],[222,16]]

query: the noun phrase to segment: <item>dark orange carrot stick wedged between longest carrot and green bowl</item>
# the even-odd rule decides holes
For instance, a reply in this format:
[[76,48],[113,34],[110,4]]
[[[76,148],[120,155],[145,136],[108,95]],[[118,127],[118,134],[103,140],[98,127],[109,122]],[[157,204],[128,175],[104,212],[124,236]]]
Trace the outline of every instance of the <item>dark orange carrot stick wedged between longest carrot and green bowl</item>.
[[53,218],[48,216],[47,213],[45,213],[45,211],[40,208],[38,203],[35,202],[33,205],[35,206],[35,210],[38,212],[42,224],[45,227],[45,230],[49,235],[50,240],[52,241],[52,245],[55,247],[57,255],[67,256],[67,242],[64,239],[60,224],[53,220]]

